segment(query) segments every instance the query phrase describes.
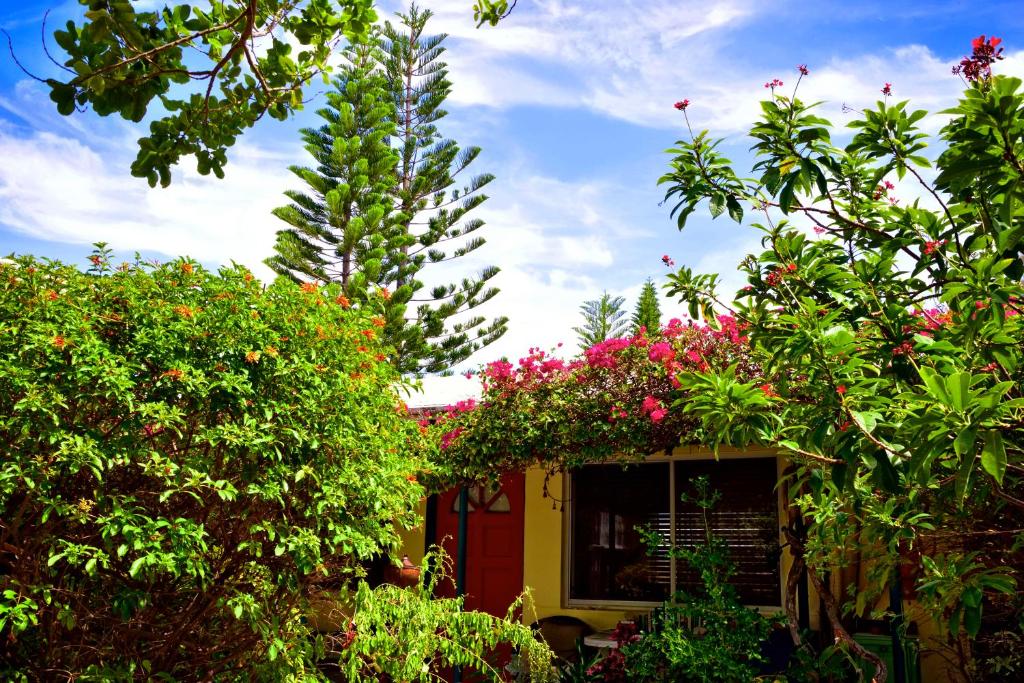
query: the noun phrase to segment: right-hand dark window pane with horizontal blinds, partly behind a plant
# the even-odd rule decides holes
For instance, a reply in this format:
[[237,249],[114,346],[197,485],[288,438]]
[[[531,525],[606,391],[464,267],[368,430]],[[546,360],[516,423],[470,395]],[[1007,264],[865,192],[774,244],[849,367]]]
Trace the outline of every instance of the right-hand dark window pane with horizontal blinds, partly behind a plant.
[[[693,495],[691,479],[707,476],[722,498],[709,515],[712,532],[729,545],[736,564],[732,584],[749,605],[779,604],[778,498],[775,459],[677,461],[676,493]],[[705,540],[701,509],[676,501],[676,543],[692,547]],[[676,565],[676,588],[699,586],[699,577],[683,560]]]

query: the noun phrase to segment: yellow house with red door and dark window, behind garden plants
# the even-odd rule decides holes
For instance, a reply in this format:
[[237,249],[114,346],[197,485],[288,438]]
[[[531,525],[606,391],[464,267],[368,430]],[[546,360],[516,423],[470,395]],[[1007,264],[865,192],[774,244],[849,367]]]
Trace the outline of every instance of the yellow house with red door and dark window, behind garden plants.
[[[454,403],[472,397],[476,387],[462,378],[431,381],[427,399],[410,400],[411,408]],[[664,551],[648,556],[638,528],[656,530],[667,543],[701,540],[705,518],[682,495],[693,493],[693,478],[707,476],[721,494],[709,522],[728,542],[740,597],[765,613],[780,612],[793,558],[781,530],[784,492],[776,482],[787,466],[784,457],[767,451],[723,450],[716,460],[707,449],[681,446],[628,466],[592,463],[565,474],[535,468],[504,476],[500,486],[472,486],[466,497],[466,607],[504,614],[528,589],[527,624],[569,615],[600,631],[648,613],[697,577]],[[403,532],[414,562],[434,543],[456,557],[459,510],[459,490],[423,502],[424,524]],[[834,589],[869,581],[859,563],[831,579]],[[801,625],[818,630],[827,624],[813,587],[804,580],[796,590]],[[454,595],[451,582],[444,593]],[[912,621],[913,604],[906,605]],[[924,620],[914,628],[923,639],[936,632]],[[922,667],[923,680],[954,680],[943,673],[940,657],[926,656]]]

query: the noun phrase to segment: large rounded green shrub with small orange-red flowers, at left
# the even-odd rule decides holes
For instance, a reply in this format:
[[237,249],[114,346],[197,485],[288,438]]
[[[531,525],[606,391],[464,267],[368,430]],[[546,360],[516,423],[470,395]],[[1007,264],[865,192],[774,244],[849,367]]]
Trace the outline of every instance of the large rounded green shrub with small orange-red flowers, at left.
[[0,677],[316,680],[308,603],[398,544],[431,453],[337,292],[0,263]]

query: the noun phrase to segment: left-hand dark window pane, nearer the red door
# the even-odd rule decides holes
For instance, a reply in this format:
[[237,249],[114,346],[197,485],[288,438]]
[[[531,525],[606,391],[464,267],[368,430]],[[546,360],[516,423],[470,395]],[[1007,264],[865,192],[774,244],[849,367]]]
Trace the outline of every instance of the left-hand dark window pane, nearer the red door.
[[648,557],[636,527],[669,543],[669,464],[589,465],[572,473],[569,597],[660,601],[669,559]]

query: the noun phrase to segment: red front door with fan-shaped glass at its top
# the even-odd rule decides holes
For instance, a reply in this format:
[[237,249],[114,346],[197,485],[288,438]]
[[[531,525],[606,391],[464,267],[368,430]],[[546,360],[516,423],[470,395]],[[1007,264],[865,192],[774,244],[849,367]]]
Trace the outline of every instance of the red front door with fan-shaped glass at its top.
[[[523,503],[526,478],[506,474],[500,485],[469,488],[466,546],[466,609],[504,616],[522,593]],[[439,587],[455,595],[459,547],[459,489],[438,496],[437,539],[452,559],[452,580]]]

